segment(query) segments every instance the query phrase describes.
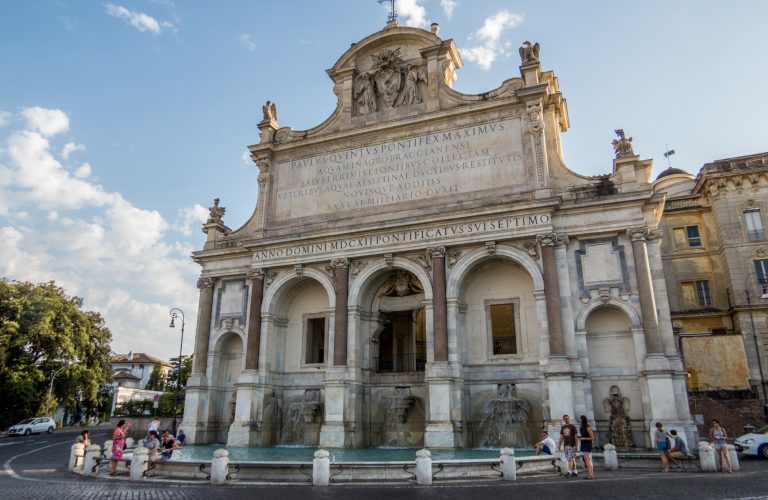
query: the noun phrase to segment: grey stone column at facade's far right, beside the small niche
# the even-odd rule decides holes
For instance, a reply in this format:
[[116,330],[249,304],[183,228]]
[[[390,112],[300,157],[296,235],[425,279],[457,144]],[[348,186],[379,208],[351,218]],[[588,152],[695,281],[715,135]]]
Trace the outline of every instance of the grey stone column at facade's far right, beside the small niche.
[[640,313],[643,317],[643,334],[648,355],[662,354],[661,338],[659,336],[659,318],[656,313],[656,297],[653,293],[651,281],[651,268],[648,263],[648,249],[646,239],[649,230],[646,227],[635,227],[627,230],[627,235],[632,240],[632,255],[635,261],[635,275],[637,276],[637,291],[640,295]]

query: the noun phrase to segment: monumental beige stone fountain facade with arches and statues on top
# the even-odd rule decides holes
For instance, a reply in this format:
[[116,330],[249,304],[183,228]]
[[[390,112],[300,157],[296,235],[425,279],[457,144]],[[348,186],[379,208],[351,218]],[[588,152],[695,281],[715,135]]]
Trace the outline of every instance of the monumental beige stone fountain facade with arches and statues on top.
[[538,44],[520,75],[452,88],[452,40],[390,22],[327,71],[320,125],[267,102],[252,217],[218,200],[183,428],[194,443],[531,446],[564,414],[600,443],[694,442],[651,162],[569,170],[566,101]]

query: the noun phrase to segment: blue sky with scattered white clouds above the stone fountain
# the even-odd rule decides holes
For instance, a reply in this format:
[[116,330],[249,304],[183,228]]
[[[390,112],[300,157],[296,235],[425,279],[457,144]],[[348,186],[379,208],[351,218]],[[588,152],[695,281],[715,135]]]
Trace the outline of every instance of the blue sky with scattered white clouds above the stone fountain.
[[[611,170],[613,130],[693,173],[768,150],[764,1],[402,0],[464,57],[456,90],[518,76],[541,43],[568,100],[566,163]],[[243,158],[266,100],[301,130],[335,107],[325,70],[381,29],[375,0],[0,4],[0,276],[55,280],[101,311],[117,352],[190,352],[205,207],[242,225],[257,193]]]

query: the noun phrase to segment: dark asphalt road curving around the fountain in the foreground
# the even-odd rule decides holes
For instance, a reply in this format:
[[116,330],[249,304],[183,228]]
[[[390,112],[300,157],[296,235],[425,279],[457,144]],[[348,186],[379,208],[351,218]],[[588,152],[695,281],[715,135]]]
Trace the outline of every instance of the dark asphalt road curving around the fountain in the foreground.
[[[692,472],[661,473],[642,470],[604,472],[587,481],[557,476],[521,478],[516,482],[413,484],[336,484],[313,487],[298,484],[232,484],[213,487],[201,483],[172,483],[162,480],[130,482],[117,479],[83,478],[66,471],[69,449],[76,431],[53,435],[0,438],[0,499],[768,499],[768,460],[742,460],[742,471],[734,474]],[[106,432],[93,433],[95,442],[107,439]]]

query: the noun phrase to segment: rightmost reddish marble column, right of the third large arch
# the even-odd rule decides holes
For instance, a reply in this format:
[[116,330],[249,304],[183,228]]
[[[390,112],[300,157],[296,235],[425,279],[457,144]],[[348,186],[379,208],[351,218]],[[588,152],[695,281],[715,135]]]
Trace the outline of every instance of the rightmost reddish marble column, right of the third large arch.
[[544,268],[544,297],[547,306],[549,357],[565,357],[563,318],[560,311],[560,282],[557,279],[555,245],[566,243],[566,237],[557,233],[540,234],[536,241],[541,246],[541,264]]

